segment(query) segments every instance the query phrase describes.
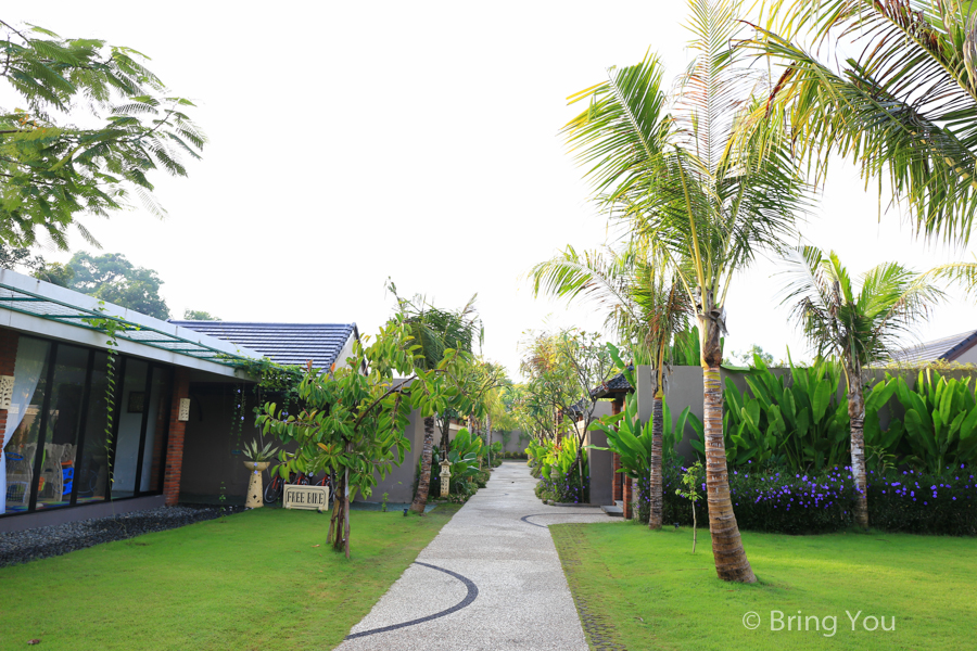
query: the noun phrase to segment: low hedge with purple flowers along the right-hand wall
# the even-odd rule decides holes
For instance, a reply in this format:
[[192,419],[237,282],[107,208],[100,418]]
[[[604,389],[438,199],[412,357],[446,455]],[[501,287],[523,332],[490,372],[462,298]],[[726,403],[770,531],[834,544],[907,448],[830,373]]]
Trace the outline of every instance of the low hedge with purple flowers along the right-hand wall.
[[[675,495],[684,469],[662,473],[664,523],[691,524],[688,501]],[[703,481],[705,485],[705,481]],[[705,488],[705,486],[703,486]],[[848,468],[817,474],[782,470],[729,472],[733,510],[740,528],[782,534],[820,534],[852,525],[854,482]],[[647,500],[647,496],[642,496]],[[699,518],[707,516],[702,505]],[[964,468],[935,476],[913,471],[868,474],[868,521],[873,527],[918,534],[977,535],[977,481]]]

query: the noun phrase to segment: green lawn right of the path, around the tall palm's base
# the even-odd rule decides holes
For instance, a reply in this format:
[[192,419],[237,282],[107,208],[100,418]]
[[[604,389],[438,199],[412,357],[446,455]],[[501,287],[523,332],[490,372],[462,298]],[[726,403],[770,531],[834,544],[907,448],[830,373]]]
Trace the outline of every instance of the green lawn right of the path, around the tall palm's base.
[[[974,538],[747,532],[759,584],[745,586],[715,577],[708,529],[699,532],[695,556],[687,527],[650,533],[629,523],[561,524],[549,531],[595,649],[977,648]],[[798,611],[803,620],[788,623]],[[855,630],[846,611],[857,617]],[[759,615],[749,622],[759,624],[753,630],[744,625],[750,612]],[[885,620],[868,631],[875,621],[865,617]],[[894,631],[884,631],[893,617]]]

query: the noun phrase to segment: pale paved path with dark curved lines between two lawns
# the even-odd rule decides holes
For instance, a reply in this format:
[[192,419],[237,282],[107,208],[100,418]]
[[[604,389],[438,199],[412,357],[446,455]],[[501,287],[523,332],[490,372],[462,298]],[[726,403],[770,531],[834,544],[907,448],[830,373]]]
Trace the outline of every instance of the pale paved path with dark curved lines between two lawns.
[[587,651],[547,525],[610,518],[535,486],[524,461],[495,469],[339,649]]

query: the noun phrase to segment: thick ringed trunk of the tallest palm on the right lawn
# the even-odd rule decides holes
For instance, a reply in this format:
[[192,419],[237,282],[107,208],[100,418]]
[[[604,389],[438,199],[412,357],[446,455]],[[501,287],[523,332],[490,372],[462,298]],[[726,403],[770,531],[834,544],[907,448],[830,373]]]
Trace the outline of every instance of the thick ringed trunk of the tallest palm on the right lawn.
[[[710,306],[711,307],[711,306]],[[706,488],[709,505],[709,532],[715,573],[723,580],[757,583],[733,512],[723,441],[723,387],[720,362],[723,348],[720,329],[712,319],[699,316],[702,333],[702,416],[706,425]]]

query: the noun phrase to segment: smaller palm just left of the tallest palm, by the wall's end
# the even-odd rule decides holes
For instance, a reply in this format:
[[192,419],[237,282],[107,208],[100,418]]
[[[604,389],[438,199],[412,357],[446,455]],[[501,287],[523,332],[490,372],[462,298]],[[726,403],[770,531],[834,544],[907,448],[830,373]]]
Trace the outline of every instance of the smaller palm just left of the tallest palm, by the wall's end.
[[656,390],[651,410],[650,516],[648,526],[662,524],[661,460],[664,399],[664,366],[670,360],[672,335],[687,326],[688,302],[678,280],[648,242],[631,240],[621,251],[576,253],[568,246],[531,271],[533,292],[551,296],[589,299],[606,312],[605,326],[627,342],[635,362],[651,362]]

